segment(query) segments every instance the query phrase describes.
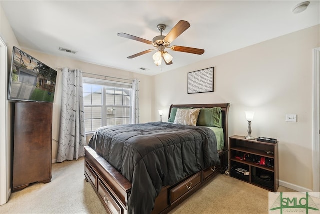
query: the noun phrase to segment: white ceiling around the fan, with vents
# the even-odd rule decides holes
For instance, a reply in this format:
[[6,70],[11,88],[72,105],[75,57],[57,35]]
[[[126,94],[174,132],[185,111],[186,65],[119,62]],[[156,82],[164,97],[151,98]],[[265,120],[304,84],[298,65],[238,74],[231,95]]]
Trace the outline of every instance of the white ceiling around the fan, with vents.
[[[300,2],[303,0],[0,1],[21,48],[147,75],[320,24],[320,1],[310,1],[304,12],[292,13]],[[117,33],[152,41],[160,35],[157,24],[167,25],[166,35],[179,20],[188,21],[191,27],[171,45],[205,49],[204,54],[168,49],[173,64],[161,66],[153,63],[154,52],[127,59],[153,46]],[[59,47],[77,53],[61,52]]]

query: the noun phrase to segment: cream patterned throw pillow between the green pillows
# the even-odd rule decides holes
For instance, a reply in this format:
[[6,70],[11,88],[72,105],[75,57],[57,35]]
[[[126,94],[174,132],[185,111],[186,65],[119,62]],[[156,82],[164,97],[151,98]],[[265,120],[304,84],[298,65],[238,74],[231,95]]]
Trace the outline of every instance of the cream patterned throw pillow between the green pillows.
[[199,108],[177,109],[174,124],[196,126],[200,113]]

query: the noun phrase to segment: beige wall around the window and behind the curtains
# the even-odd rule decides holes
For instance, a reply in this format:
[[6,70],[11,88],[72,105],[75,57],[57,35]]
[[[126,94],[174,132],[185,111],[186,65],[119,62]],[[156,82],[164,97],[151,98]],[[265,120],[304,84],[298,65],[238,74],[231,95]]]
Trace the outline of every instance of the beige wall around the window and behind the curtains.
[[[68,67],[69,69],[80,69],[85,73],[93,73],[98,75],[106,75],[125,79],[139,79],[139,106],[140,106],[140,123],[149,122],[151,118],[151,77],[147,75],[132,73],[129,71],[118,70],[114,68],[108,68],[104,66],[94,65],[90,63],[80,62],[72,60],[66,57],[57,57],[44,53],[35,52],[32,50],[24,49],[25,52],[32,57],[40,60],[44,64],[56,69]],[[58,71],[56,93],[53,103],[53,140],[52,140],[52,160],[56,160],[57,146],[59,140],[59,123],[60,123],[60,108],[61,108],[61,87],[62,87],[62,75],[61,71]],[[83,74],[83,76],[101,78],[99,76]]]

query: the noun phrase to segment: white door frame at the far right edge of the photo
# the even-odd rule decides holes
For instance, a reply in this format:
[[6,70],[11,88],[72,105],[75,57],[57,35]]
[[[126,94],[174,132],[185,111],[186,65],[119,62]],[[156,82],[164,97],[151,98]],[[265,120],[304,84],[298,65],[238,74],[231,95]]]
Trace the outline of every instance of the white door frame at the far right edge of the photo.
[[320,192],[320,47],[313,49],[313,192]]

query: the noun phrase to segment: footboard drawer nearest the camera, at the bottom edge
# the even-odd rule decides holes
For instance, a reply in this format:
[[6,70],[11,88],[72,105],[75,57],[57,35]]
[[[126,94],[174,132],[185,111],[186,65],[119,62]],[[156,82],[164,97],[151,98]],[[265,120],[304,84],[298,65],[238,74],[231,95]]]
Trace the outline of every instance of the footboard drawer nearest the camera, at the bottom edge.
[[98,179],[98,193],[101,196],[104,207],[106,207],[110,213],[121,213],[121,207],[115,202],[112,195],[105,188],[100,179]]

